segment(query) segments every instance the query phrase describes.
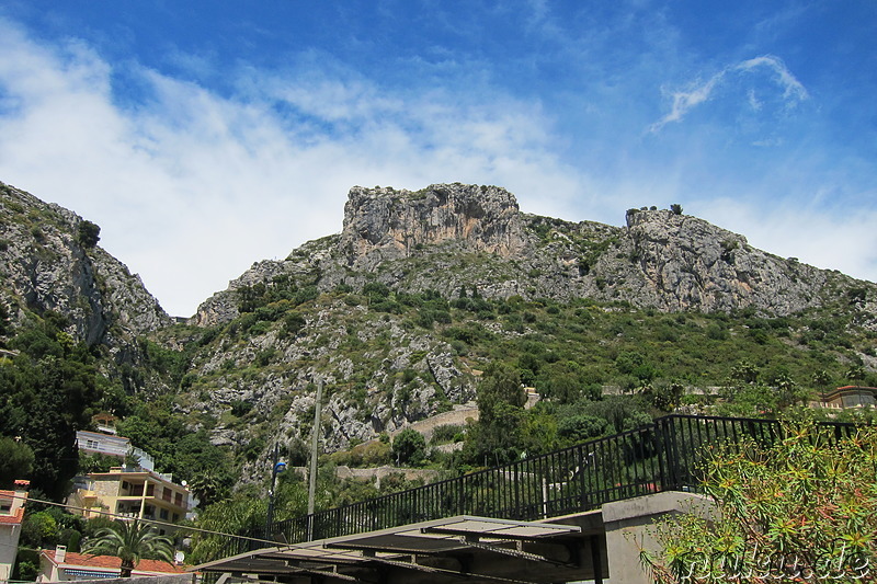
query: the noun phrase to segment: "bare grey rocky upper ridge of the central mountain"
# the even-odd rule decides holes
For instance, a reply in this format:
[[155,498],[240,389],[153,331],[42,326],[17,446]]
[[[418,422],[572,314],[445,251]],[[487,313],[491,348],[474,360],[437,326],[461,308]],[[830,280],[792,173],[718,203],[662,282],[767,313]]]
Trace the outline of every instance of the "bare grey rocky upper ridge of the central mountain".
[[487,298],[624,300],[662,311],[751,307],[776,316],[819,306],[834,286],[852,282],[681,213],[629,209],[626,221],[619,228],[526,215],[496,186],[357,186],[340,236],[310,242],[282,262],[254,264],[202,305],[194,322],[227,322],[238,313],[229,296],[281,275],[314,274],[320,290],[374,279],[446,297],[471,286]]

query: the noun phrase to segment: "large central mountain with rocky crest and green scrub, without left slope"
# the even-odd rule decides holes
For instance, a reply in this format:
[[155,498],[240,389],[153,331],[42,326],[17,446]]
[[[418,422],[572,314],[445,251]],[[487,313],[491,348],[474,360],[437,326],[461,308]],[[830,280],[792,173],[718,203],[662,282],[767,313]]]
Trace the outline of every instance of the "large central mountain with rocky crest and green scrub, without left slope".
[[497,187],[354,187],[341,234],[200,307],[178,403],[255,461],[277,432],[300,449],[317,379],[332,450],[474,399],[493,362],[546,396],[567,387],[566,402],[720,386],[742,360],[812,388],[816,371],[873,368],[874,301],[872,284],[670,210],[631,209],[617,228],[522,214]]

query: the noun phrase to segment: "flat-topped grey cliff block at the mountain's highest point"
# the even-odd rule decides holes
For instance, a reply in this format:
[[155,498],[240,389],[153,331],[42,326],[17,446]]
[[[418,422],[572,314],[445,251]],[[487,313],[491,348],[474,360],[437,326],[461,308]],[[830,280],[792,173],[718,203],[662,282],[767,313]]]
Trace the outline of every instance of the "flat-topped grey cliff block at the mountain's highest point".
[[[421,191],[354,186],[344,206],[341,250],[361,259],[408,257],[423,245],[459,241],[503,257],[526,245],[514,195],[497,186],[433,184]],[[377,252],[377,253],[375,253]]]

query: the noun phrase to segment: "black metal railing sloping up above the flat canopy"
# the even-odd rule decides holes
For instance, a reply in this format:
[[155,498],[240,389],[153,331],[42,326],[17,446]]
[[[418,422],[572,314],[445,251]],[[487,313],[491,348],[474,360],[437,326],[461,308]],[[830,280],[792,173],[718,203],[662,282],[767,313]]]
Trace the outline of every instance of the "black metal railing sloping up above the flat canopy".
[[[854,426],[823,423],[834,435]],[[775,420],[672,414],[652,424],[555,453],[272,524],[289,543],[360,534],[454,515],[537,520],[595,509],[659,491],[697,491],[709,448],[773,443]],[[251,537],[262,538],[251,533]],[[231,553],[263,547],[243,541]]]

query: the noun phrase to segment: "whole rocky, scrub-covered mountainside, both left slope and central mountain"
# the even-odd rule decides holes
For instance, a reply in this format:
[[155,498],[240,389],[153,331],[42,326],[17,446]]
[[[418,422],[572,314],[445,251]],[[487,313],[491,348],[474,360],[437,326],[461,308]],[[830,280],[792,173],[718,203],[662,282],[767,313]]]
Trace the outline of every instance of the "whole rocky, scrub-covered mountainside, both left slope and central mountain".
[[521,213],[494,186],[354,187],[340,234],[255,263],[171,324],[136,276],[78,242],[81,219],[3,194],[12,328],[47,309],[69,319],[104,385],[126,390],[107,403],[127,435],[182,479],[260,481],[275,442],[303,462],[318,381],[333,451],[474,400],[503,364],[543,396],[515,434],[531,453],[708,406],[697,393],[717,387],[744,412],[877,381],[874,284],[672,210],[614,227]]

